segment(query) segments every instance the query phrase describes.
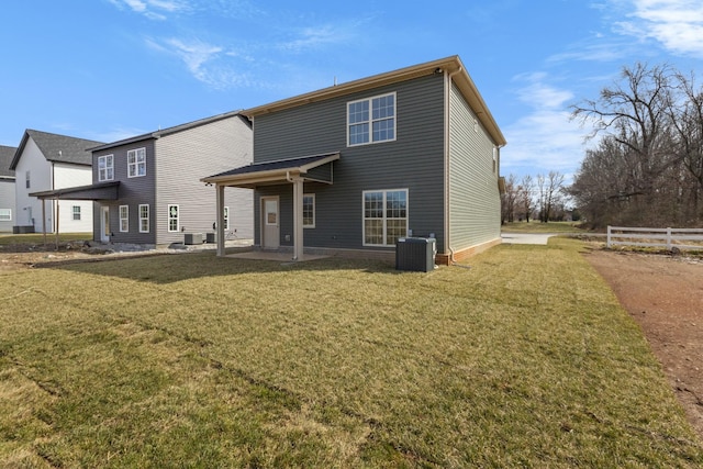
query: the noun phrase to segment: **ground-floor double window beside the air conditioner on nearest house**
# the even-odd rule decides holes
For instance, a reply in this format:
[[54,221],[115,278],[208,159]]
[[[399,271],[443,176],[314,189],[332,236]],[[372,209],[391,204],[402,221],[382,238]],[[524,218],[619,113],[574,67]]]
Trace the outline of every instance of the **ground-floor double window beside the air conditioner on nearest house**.
[[408,236],[408,189],[364,191],[364,246],[395,246]]

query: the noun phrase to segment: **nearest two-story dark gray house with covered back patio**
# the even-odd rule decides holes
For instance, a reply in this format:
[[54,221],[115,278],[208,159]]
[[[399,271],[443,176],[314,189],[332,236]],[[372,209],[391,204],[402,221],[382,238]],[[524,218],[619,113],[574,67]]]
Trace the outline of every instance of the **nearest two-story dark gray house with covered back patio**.
[[391,255],[400,237],[434,236],[448,264],[501,242],[505,138],[457,56],[242,113],[254,164],[203,181],[219,199],[255,189],[264,249]]

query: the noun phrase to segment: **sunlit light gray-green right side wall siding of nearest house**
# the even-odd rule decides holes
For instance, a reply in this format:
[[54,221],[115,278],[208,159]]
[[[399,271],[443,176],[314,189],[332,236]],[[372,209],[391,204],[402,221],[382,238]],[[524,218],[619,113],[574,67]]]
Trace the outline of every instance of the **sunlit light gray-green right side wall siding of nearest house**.
[[450,248],[459,250],[500,237],[499,167],[494,143],[456,88],[449,102]]

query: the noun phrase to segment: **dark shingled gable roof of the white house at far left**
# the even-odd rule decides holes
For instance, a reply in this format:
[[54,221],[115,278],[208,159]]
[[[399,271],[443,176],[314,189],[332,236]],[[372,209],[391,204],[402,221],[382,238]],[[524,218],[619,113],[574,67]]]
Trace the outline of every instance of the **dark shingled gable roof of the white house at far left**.
[[27,129],[22,142],[14,153],[10,169],[15,169],[24,152],[27,141],[32,138],[47,161],[68,163],[72,165],[91,166],[92,154],[88,148],[102,145],[102,142],[52,134],[48,132]]

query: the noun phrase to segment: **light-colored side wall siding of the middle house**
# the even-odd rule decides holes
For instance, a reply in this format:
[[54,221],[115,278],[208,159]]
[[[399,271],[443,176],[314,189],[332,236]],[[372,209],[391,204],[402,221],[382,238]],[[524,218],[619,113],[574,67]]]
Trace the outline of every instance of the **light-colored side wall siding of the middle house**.
[[[182,242],[182,233],[208,233],[216,216],[214,186],[200,178],[252,163],[252,130],[238,115],[210,122],[156,141],[155,227],[158,244]],[[225,188],[230,231],[254,236],[253,191]],[[168,205],[179,205],[181,233],[168,232]]]

